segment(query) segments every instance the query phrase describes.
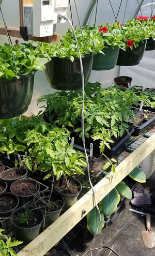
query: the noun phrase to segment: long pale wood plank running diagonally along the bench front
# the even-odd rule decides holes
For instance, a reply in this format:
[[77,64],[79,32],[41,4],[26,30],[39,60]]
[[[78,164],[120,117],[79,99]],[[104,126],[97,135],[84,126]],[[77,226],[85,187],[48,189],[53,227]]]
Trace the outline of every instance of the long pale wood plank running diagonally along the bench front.
[[[116,167],[115,175],[111,172],[94,187],[97,203],[142,162],[154,148],[155,133]],[[22,249],[18,253],[18,256],[43,256],[86,216],[94,206],[95,203],[92,197],[92,191],[90,190],[68,209],[67,212],[60,216],[59,219],[51,224],[48,229]],[[85,214],[82,214],[83,210]]]

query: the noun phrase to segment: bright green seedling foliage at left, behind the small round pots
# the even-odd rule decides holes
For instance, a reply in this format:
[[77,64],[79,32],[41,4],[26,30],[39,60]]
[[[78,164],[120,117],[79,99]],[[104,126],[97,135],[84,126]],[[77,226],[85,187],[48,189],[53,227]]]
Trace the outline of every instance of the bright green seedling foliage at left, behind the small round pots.
[[[5,119],[0,122],[0,152],[21,153],[22,162],[30,171],[48,172],[58,180],[63,176],[84,174],[85,156],[72,149],[70,132],[41,121],[42,117]],[[11,138],[11,139],[10,139]],[[17,165],[17,160],[15,162]]]

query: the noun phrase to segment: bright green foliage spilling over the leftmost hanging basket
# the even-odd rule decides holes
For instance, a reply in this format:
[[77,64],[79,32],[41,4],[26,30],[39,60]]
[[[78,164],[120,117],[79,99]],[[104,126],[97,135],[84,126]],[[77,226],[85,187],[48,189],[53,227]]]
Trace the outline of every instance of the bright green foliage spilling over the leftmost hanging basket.
[[[40,57],[39,46],[36,42],[12,45],[11,47],[17,71],[21,76],[38,69],[45,69],[44,64],[49,61],[49,58]],[[0,79],[18,78],[17,71],[14,67],[10,46],[5,43],[4,46],[0,46]]]

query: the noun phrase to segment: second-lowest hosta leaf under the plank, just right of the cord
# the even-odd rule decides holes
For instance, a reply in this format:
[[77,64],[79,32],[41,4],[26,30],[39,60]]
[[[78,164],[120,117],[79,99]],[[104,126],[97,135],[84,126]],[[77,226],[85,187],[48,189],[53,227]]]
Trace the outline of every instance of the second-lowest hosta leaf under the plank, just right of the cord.
[[117,209],[117,205],[120,201],[120,195],[114,188],[105,198],[100,202],[100,210],[104,216],[111,215]]

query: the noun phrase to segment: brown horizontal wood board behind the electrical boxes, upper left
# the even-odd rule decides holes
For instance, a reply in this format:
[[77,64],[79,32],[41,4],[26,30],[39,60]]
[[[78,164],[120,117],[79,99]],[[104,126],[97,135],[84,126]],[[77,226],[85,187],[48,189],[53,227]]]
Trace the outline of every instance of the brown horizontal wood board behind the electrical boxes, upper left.
[[[20,29],[18,27],[8,27],[9,35],[16,38],[22,38],[20,34]],[[0,35],[6,36],[6,31],[4,25],[0,25]],[[60,40],[59,34],[54,34],[53,36],[46,37],[32,37],[28,36],[29,40],[40,41],[40,42],[58,42]]]

